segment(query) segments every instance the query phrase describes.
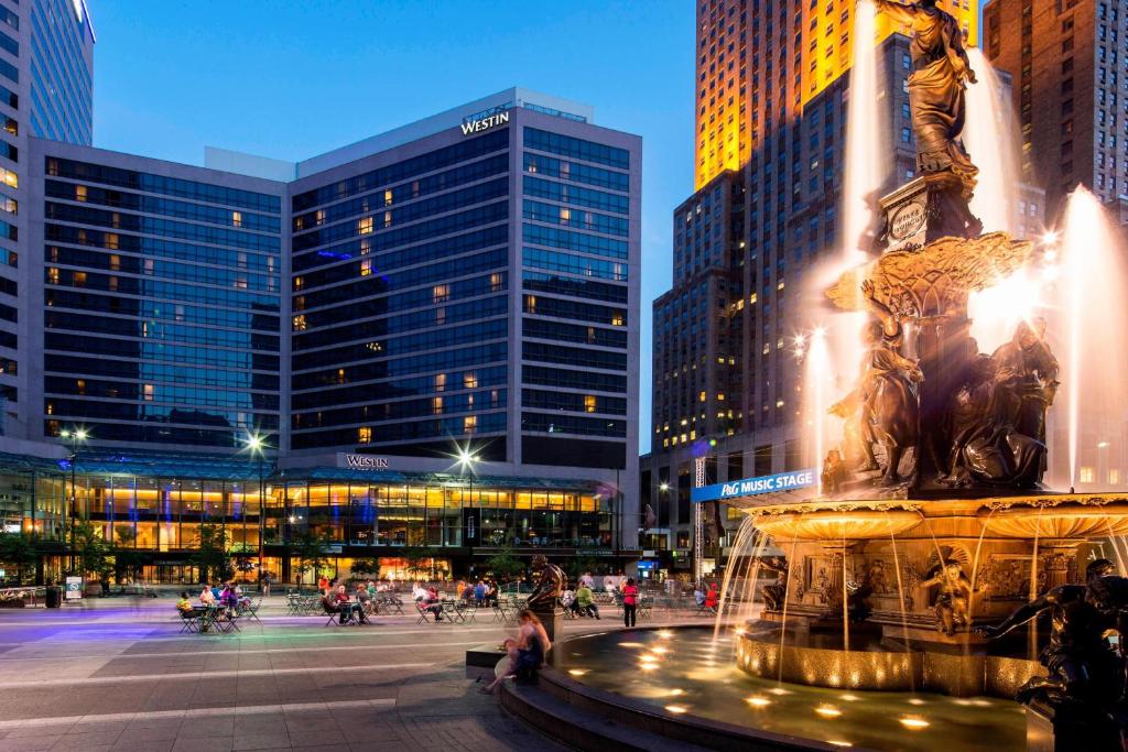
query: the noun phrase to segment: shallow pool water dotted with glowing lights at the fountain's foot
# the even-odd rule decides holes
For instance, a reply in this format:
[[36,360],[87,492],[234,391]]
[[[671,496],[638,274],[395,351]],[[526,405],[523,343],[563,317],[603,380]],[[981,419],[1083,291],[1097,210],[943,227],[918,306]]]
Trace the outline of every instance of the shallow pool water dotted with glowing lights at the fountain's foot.
[[[584,684],[668,713],[841,746],[889,752],[1025,749],[1024,711],[1008,700],[777,684],[737,669],[729,660],[733,646],[728,638],[714,654],[712,637],[712,629],[702,628],[591,635],[570,639],[567,653],[554,661],[558,669],[585,672],[582,678],[573,673]],[[670,704],[672,697],[677,705]]]

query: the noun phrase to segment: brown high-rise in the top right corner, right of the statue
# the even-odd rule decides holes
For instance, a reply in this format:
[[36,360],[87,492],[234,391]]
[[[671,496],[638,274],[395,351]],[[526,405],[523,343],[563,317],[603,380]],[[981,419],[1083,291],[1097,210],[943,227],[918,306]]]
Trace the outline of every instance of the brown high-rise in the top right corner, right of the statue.
[[988,59],[1011,73],[1023,179],[1046,215],[1085,185],[1128,222],[1128,6],[1118,0],[992,0]]

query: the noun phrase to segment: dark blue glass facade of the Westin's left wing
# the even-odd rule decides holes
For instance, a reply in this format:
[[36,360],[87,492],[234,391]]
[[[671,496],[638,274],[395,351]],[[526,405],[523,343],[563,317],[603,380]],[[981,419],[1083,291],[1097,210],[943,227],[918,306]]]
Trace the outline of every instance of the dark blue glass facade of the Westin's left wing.
[[49,152],[44,434],[80,426],[103,445],[217,449],[276,434],[280,191],[68,159],[36,143]]

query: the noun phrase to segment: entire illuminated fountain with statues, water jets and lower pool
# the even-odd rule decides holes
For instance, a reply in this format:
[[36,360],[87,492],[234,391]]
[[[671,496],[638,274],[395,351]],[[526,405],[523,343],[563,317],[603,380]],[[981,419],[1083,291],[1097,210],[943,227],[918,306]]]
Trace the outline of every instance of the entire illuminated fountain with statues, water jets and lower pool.
[[[935,749],[937,738],[952,749],[1013,749],[1026,725],[1030,738],[1108,749],[1120,731],[1110,719],[1120,717],[1125,662],[1105,630],[1128,629],[1128,580],[1111,575],[1096,550],[1108,540],[1120,558],[1128,495],[1054,492],[1045,479],[1047,418],[1059,401],[1069,486],[1085,475],[1084,406],[1100,405],[1110,424],[1123,424],[1122,391],[1095,382],[1122,381],[1128,370],[1083,379],[1084,359],[1100,347],[1086,338],[1120,342],[1108,333],[1123,320],[1109,315],[1121,310],[1125,290],[1113,236],[1102,230],[1095,198],[1078,188],[1060,247],[1013,238],[1007,150],[977,166],[960,139],[964,85],[976,74],[987,91],[969,103],[980,108],[964,131],[969,141],[986,151],[1001,141],[992,129],[1011,122],[986,61],[973,55],[972,67],[954,20],[928,0],[873,0],[856,17],[854,76],[863,88],[874,11],[916,30],[909,94],[919,177],[870,201],[881,169],[860,169],[875,153],[860,139],[873,129],[848,124],[846,248],[827,265],[822,291],[836,312],[817,313],[811,333],[796,338],[820,486],[805,496],[726,499],[748,519],[712,640],[690,630],[605,634],[570,640],[556,665],[682,723],[729,722],[739,707],[751,734],[878,749]],[[863,105],[875,100],[853,91],[851,117],[870,117]],[[866,254],[855,246],[869,245],[870,204],[883,222]],[[1050,272],[1059,267],[1057,282]],[[1094,311],[1103,315],[1091,318]],[[1114,350],[1100,357],[1122,357]],[[1093,395],[1103,397],[1094,402]],[[758,584],[768,572],[777,580]],[[1038,629],[1039,613],[1050,616],[1048,634]],[[729,640],[734,665],[717,660]],[[637,666],[624,657],[634,651]],[[641,673],[632,679],[625,667]],[[976,713],[951,716],[953,707]],[[844,716],[854,719],[848,727]],[[931,743],[914,738],[929,727]]]

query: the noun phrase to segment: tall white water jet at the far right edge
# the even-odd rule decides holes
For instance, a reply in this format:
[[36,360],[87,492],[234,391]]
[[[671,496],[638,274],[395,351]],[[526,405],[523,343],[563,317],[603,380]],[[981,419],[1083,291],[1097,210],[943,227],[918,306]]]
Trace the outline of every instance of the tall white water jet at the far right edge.
[[1122,472],[1120,440],[1128,412],[1128,388],[1122,378],[1128,369],[1122,254],[1100,201],[1078,187],[1066,205],[1061,237],[1064,317],[1059,317],[1065,320],[1057,321],[1067,346],[1061,381],[1067,389],[1069,486],[1100,487],[1110,478],[1098,477],[1099,472],[1107,468]]

